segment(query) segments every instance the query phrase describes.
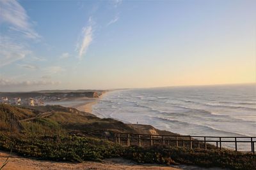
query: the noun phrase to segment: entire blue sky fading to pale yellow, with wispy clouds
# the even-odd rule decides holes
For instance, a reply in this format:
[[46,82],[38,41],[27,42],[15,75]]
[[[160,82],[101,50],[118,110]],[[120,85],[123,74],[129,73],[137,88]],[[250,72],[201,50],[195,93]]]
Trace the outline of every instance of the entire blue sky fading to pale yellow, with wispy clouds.
[[0,0],[0,91],[255,83],[255,7]]

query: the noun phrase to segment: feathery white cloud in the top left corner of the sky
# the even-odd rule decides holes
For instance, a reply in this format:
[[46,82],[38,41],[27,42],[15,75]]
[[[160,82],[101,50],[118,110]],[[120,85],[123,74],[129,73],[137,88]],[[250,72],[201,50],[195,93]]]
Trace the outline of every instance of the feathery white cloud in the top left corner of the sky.
[[24,34],[27,38],[38,39],[40,35],[29,22],[26,10],[15,0],[0,0],[0,22],[6,22],[10,29]]

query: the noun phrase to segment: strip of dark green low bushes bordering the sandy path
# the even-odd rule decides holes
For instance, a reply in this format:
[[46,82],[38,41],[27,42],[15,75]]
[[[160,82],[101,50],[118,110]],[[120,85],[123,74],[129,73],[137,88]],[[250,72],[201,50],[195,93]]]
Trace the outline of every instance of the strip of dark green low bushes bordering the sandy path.
[[0,134],[0,150],[36,159],[83,162],[124,157],[140,163],[189,164],[203,167],[255,169],[256,155],[228,150],[190,150],[170,146],[124,147],[110,141],[69,135]]

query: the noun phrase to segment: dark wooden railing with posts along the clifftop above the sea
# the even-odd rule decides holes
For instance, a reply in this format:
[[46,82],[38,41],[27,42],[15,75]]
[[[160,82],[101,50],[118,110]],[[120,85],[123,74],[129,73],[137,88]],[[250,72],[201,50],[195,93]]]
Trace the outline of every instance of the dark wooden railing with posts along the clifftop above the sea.
[[[213,148],[221,150],[224,143],[234,143],[234,149],[237,151],[237,143],[250,143],[252,153],[255,153],[256,137],[230,137],[230,136],[175,136],[175,135],[153,135],[153,134],[114,134],[115,143],[120,145],[174,145],[183,148]],[[214,143],[214,145],[212,145]]]

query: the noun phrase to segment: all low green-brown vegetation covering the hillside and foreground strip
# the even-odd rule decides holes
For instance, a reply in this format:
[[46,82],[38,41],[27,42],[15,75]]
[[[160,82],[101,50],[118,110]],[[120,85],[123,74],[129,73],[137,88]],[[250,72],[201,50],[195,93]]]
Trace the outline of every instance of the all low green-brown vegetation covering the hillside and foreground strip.
[[[53,111],[54,114],[47,118],[36,118],[33,122],[19,122],[22,118],[35,117],[45,111]],[[125,147],[102,139],[104,131],[140,132],[131,125],[109,118],[100,119],[72,108],[18,108],[0,104],[0,150],[12,150],[22,157],[70,162],[124,157],[139,163],[189,164],[230,169],[256,167],[256,155],[252,153],[191,150],[163,145]]]

